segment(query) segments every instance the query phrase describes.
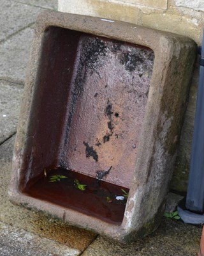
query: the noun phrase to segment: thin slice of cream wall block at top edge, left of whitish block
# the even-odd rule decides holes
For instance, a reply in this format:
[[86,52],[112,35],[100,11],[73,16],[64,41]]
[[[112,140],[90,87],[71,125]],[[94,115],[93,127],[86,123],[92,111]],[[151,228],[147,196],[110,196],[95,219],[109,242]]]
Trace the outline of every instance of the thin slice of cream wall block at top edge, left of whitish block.
[[138,4],[142,5],[145,7],[150,7],[150,8],[159,8],[159,9],[164,9],[166,10],[167,8],[167,0],[119,0],[120,2],[123,3],[131,3],[131,4]]

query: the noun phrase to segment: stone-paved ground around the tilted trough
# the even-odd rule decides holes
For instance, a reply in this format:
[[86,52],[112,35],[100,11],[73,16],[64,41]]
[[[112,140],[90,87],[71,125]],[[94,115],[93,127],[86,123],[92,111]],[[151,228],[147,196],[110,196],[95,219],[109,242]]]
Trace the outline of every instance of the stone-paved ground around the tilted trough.
[[[201,228],[180,221],[164,218],[154,234],[124,245],[9,202],[13,143],[33,25],[45,9],[57,9],[57,1],[1,0],[0,5],[0,256],[196,255]],[[168,207],[177,196],[170,199]]]

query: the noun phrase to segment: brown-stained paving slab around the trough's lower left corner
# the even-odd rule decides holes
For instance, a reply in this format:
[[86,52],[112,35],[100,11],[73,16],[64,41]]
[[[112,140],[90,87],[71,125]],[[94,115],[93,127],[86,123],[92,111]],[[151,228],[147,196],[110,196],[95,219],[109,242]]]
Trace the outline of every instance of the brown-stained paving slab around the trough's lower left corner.
[[41,237],[52,239],[69,246],[69,248],[83,252],[96,239],[96,234],[72,227],[38,212],[28,211],[25,208],[11,204],[8,200],[14,140],[15,136],[0,147],[0,221],[18,228],[24,228]]

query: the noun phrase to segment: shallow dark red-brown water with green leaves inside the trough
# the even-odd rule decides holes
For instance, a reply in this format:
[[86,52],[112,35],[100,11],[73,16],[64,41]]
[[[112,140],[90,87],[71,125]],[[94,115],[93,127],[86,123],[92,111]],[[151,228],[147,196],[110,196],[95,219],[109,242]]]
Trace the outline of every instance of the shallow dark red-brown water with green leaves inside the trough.
[[24,193],[101,218],[109,223],[122,222],[129,189],[73,172],[73,170],[58,168],[46,172],[45,170],[43,177]]

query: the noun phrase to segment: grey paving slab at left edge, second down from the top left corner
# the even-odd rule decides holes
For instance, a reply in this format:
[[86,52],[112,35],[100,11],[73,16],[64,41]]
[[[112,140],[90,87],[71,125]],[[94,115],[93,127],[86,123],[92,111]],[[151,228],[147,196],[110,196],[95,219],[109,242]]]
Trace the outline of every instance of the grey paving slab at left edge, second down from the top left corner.
[[24,83],[32,37],[26,28],[0,44],[0,79]]

